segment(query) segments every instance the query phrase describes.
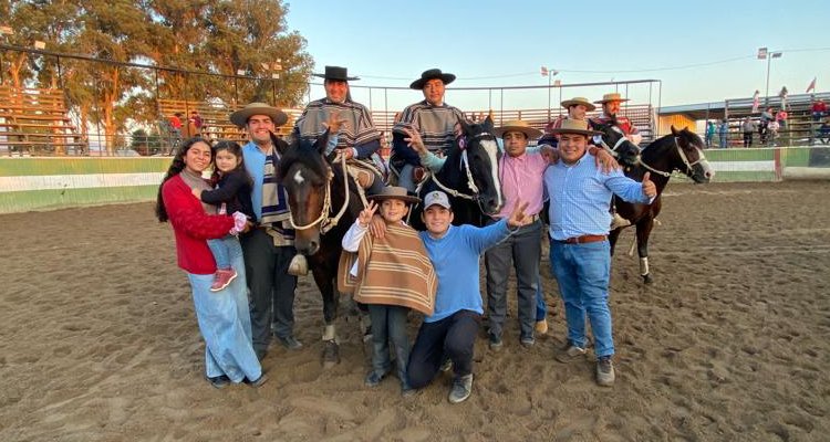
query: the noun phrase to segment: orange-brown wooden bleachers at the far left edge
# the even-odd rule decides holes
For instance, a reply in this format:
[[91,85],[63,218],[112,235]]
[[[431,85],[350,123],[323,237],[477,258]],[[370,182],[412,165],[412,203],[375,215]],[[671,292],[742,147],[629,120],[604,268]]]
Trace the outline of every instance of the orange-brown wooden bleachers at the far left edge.
[[86,152],[86,140],[71,123],[62,91],[0,86],[0,150],[10,156]]

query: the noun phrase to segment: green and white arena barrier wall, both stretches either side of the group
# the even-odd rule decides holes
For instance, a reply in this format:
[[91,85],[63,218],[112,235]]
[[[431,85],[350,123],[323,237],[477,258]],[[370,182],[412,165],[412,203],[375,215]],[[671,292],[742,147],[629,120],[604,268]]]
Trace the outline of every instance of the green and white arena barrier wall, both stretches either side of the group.
[[[706,158],[715,182],[830,179],[830,147],[708,149]],[[0,213],[151,201],[169,164],[170,157],[0,158]]]

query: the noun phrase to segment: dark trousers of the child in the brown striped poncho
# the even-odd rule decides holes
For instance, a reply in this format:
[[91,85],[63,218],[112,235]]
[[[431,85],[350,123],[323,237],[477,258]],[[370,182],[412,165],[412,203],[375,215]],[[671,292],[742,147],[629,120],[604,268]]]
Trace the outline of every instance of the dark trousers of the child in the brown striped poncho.
[[390,340],[395,349],[397,378],[408,387],[406,362],[409,361],[409,337],[406,335],[406,316],[409,309],[395,305],[369,304],[372,318],[372,370],[378,376],[390,371]]

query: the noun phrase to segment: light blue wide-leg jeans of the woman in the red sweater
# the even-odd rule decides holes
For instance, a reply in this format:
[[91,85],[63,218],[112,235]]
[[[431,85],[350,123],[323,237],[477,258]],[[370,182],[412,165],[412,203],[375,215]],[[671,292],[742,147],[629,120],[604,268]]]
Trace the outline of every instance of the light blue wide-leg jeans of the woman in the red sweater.
[[212,274],[187,274],[196,319],[205,339],[205,373],[210,378],[226,375],[234,382],[241,382],[243,378],[257,380],[262,367],[251,344],[241,249],[230,257],[239,276],[222,291],[210,292]]

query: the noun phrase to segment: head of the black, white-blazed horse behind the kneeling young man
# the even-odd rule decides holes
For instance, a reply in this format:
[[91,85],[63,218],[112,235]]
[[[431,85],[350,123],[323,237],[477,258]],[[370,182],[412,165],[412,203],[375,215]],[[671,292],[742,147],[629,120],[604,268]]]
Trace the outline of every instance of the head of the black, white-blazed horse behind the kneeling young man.
[[466,185],[483,213],[496,214],[501,210],[504,198],[498,173],[501,154],[492,133],[492,118],[488,116],[483,123],[459,123],[463,136],[457,154],[460,172],[466,175],[460,182]]

